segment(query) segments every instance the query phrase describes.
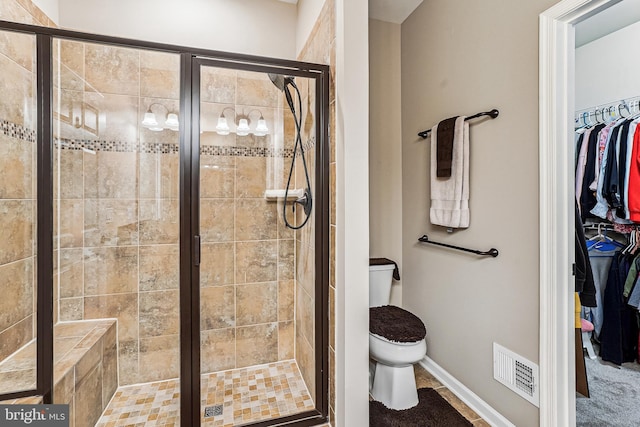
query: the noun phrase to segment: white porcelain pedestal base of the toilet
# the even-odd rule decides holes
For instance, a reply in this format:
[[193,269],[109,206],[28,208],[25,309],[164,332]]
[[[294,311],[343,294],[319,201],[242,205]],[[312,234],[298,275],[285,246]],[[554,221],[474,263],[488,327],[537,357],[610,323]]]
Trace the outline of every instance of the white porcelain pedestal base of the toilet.
[[418,404],[413,365],[376,364],[371,396],[389,409],[409,409]]

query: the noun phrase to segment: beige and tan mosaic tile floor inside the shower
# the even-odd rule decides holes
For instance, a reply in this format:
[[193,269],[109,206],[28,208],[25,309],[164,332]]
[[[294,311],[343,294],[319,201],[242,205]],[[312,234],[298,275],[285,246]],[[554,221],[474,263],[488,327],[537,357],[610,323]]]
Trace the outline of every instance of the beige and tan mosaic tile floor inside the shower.
[[[202,425],[231,427],[314,408],[295,361],[202,375]],[[204,418],[204,408],[222,405],[222,415]],[[118,388],[96,427],[178,426],[179,380]]]

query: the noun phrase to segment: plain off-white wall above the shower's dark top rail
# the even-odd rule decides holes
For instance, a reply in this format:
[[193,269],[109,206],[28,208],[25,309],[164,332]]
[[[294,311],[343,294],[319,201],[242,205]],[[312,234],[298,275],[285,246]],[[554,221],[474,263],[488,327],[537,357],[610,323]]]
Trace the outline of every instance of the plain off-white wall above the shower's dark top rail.
[[295,59],[296,6],[293,4],[276,0],[59,2],[63,28]]

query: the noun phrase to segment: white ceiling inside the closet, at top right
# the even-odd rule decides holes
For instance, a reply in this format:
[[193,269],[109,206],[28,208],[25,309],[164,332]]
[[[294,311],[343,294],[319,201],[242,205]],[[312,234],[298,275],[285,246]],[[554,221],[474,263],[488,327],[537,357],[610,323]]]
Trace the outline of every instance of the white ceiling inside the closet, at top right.
[[576,24],[576,47],[640,21],[640,0],[622,0]]

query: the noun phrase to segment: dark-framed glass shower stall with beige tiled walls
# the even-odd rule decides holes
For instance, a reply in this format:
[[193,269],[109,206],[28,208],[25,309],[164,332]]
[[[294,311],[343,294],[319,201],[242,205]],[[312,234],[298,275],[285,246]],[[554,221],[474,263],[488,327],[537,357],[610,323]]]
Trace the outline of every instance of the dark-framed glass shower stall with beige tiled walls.
[[0,21],[0,72],[0,401],[325,422],[328,66]]

